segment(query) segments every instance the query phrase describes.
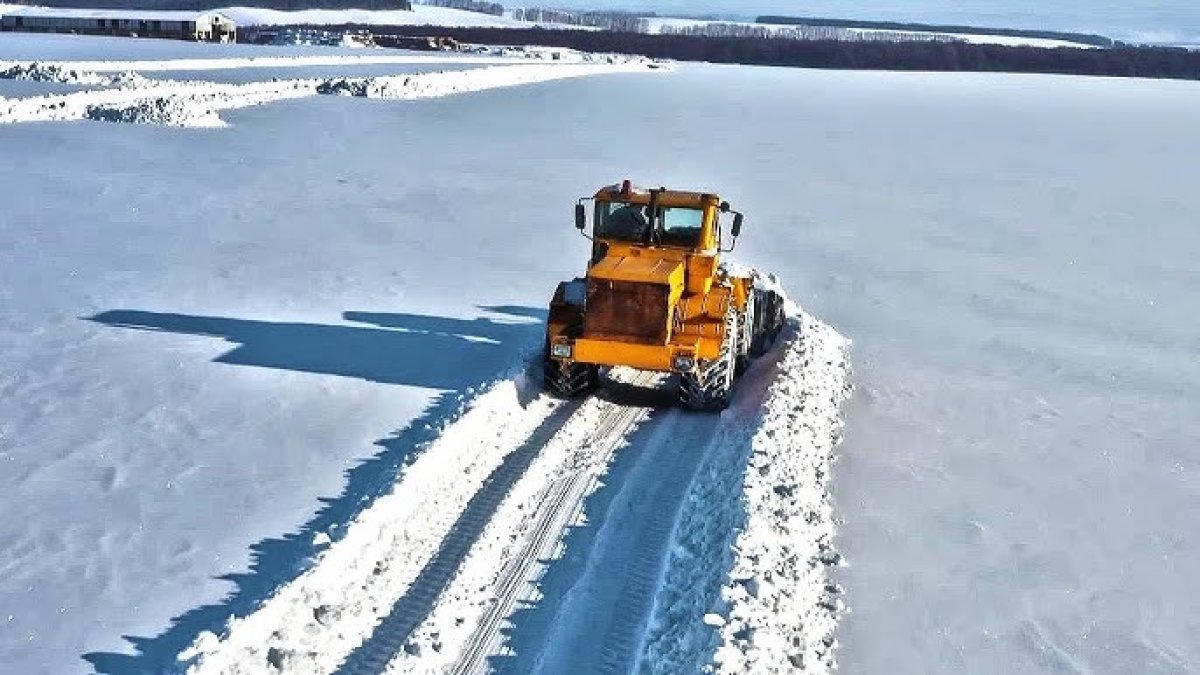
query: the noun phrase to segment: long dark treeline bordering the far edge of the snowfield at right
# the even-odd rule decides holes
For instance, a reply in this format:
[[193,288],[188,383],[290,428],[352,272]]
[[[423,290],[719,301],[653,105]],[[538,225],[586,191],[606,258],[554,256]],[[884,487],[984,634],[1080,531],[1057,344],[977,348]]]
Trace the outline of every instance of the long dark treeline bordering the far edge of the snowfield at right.
[[643,35],[593,30],[346,26],[374,34],[442,35],[480,44],[540,44],[678,61],[894,71],[1062,73],[1200,79],[1200,52],[1166,47],[1078,49],[968,42],[884,42]]

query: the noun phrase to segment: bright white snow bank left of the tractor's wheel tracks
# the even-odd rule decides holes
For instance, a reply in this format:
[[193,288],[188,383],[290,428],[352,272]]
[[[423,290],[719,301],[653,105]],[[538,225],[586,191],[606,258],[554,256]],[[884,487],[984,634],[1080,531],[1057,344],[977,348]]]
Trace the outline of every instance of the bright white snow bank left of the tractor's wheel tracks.
[[253,614],[230,620],[223,637],[202,633],[180,653],[187,673],[337,669],[410,592],[472,497],[559,405],[542,398],[522,406],[514,381],[485,392],[343,538],[320,537],[332,543],[312,568]]

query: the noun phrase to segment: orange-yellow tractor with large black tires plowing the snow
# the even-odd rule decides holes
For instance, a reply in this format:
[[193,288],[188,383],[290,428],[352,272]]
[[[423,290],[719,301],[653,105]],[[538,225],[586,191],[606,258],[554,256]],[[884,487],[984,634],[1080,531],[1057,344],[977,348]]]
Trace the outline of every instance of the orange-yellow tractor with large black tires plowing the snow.
[[[726,407],[749,359],[784,324],[774,279],[722,264],[742,232],[742,214],[712,192],[643,190],[629,180],[601,187],[575,207],[587,237],[587,276],[558,285],[546,322],[545,384],[572,398],[596,387],[600,369],[678,374],[692,410]],[[728,247],[721,219],[733,214]]]

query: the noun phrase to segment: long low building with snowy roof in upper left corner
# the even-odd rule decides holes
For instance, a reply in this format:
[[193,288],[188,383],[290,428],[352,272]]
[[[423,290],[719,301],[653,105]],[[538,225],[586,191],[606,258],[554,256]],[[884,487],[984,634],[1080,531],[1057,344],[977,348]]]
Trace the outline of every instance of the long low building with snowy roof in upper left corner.
[[22,7],[0,16],[0,31],[238,41],[233,19],[217,12]]

